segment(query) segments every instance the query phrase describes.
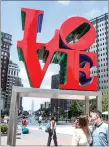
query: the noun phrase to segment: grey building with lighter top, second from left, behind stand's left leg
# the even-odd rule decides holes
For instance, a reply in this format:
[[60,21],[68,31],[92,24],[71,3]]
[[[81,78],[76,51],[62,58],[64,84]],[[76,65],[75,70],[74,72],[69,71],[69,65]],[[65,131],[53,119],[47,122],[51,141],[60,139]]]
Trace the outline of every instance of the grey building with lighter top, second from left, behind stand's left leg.
[[[7,85],[6,85],[6,98],[5,98],[5,111],[9,111],[11,95],[12,95],[12,87],[14,86],[23,86],[21,83],[21,78],[19,78],[20,69],[18,65],[12,61],[9,61],[8,66],[8,75],[7,75]],[[19,109],[22,108],[22,98],[19,101]]]

